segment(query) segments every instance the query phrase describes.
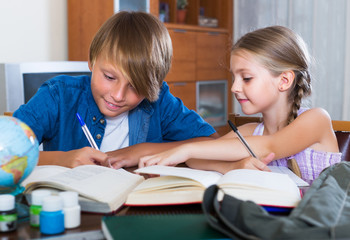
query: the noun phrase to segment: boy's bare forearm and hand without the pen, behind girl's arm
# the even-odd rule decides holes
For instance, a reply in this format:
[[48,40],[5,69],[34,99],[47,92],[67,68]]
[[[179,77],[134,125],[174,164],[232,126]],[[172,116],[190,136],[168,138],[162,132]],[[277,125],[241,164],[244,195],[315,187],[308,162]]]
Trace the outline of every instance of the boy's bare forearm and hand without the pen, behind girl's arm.
[[107,154],[108,159],[114,168],[118,169],[122,167],[133,167],[138,165],[140,158],[143,156],[160,153],[173,147],[179,146],[183,143],[213,140],[218,137],[219,134],[214,133],[209,137],[198,137],[184,141],[166,143],[139,143],[119,150],[107,152]]

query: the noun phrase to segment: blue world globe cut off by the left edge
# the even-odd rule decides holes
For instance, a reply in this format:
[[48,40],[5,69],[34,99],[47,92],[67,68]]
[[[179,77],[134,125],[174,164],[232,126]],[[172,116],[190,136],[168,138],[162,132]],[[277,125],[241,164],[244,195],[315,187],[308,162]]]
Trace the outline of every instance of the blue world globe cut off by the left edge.
[[38,157],[39,143],[32,129],[15,117],[0,116],[0,194],[22,193],[20,184]]

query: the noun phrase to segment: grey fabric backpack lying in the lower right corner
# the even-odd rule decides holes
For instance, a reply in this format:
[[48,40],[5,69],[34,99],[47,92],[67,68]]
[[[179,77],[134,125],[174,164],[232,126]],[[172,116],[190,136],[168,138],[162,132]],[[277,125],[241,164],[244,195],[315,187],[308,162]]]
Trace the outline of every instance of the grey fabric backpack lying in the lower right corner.
[[206,189],[202,209],[209,224],[233,239],[350,239],[350,162],[326,168],[288,216],[268,213],[252,201]]

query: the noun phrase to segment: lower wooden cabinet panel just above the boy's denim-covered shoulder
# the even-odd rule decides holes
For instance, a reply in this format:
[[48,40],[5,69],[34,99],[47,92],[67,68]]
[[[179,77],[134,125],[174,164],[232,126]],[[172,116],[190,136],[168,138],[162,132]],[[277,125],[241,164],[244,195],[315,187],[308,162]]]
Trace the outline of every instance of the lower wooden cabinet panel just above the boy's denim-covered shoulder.
[[196,83],[195,82],[170,82],[170,92],[180,98],[185,106],[196,111]]

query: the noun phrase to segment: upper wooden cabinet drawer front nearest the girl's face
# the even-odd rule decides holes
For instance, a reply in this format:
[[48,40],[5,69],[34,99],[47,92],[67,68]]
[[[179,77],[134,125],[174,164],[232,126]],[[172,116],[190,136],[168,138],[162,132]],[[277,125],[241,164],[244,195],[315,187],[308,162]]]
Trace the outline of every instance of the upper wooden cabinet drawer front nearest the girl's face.
[[196,35],[196,79],[227,79],[229,66],[228,35],[217,32],[198,32]]

